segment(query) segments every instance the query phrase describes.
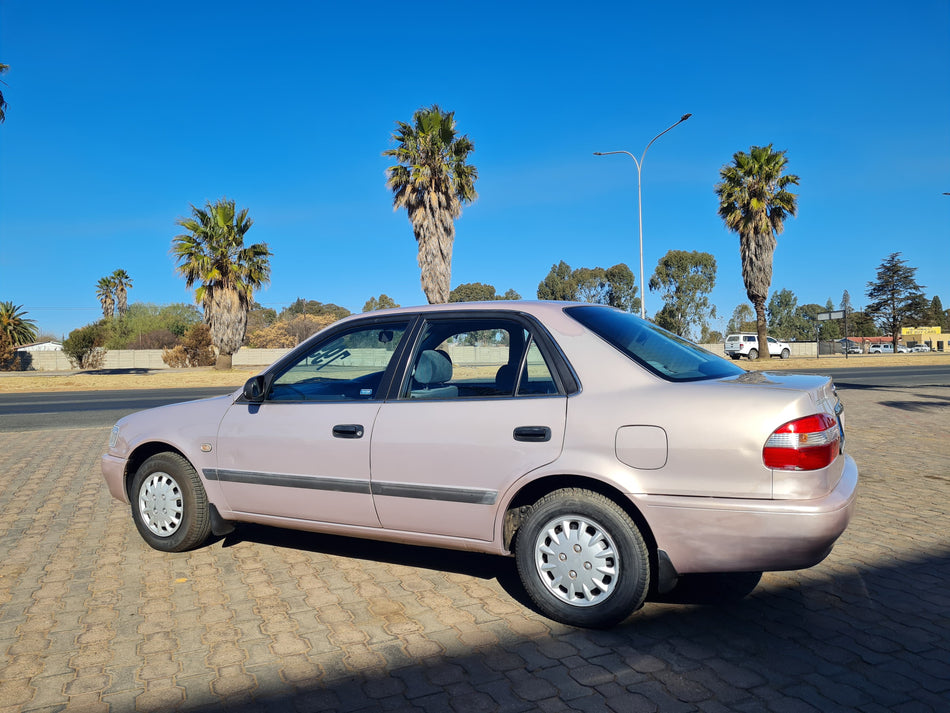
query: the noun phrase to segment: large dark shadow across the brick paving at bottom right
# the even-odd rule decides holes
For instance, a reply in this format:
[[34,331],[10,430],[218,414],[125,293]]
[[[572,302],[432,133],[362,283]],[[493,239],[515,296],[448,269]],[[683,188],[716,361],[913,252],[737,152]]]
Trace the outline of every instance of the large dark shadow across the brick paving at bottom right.
[[[345,543],[331,549],[349,556]],[[391,554],[398,553],[382,556]],[[393,559],[407,564],[402,555]],[[483,564],[472,562],[474,576],[485,576]],[[518,637],[486,622],[496,645],[458,645],[414,661],[390,652],[384,666],[325,671],[292,691],[276,678],[259,680],[243,695],[183,709],[946,710],[950,596],[936,584],[950,581],[950,550],[887,567],[834,569],[850,573],[814,572],[805,582],[801,573],[767,575],[741,602],[648,604],[608,631],[551,625],[549,633]],[[930,584],[908,597],[912,582]]]

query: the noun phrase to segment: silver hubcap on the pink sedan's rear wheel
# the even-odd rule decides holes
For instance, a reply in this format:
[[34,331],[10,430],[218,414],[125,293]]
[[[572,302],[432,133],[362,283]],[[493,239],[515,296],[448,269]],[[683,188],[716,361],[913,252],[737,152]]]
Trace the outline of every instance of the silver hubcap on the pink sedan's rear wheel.
[[535,542],[534,561],[548,591],[576,607],[602,603],[613,593],[620,573],[613,539],[581,515],[548,522]]

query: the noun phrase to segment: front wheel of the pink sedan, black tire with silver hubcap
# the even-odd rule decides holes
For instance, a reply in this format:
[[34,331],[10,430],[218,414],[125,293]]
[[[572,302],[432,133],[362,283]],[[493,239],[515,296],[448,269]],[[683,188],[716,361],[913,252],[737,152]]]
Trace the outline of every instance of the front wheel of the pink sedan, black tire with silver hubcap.
[[157,453],[132,479],[132,519],[139,534],[162,552],[184,552],[211,535],[208,495],[191,463],[177,453]]

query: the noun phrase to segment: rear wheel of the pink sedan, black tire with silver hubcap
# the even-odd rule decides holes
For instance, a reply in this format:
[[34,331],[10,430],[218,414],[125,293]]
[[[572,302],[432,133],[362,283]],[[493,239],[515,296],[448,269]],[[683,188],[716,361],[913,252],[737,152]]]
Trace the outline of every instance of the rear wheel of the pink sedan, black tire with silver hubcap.
[[532,505],[518,529],[515,560],[532,601],[569,626],[616,624],[640,608],[650,587],[636,524],[589,490],[556,490]]

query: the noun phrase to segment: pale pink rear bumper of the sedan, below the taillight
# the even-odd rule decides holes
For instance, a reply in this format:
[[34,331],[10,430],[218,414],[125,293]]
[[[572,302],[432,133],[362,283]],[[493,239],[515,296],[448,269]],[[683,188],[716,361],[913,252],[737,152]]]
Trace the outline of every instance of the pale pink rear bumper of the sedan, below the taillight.
[[851,520],[858,467],[814,500],[633,496],[678,574],[804,569],[831,552]]

